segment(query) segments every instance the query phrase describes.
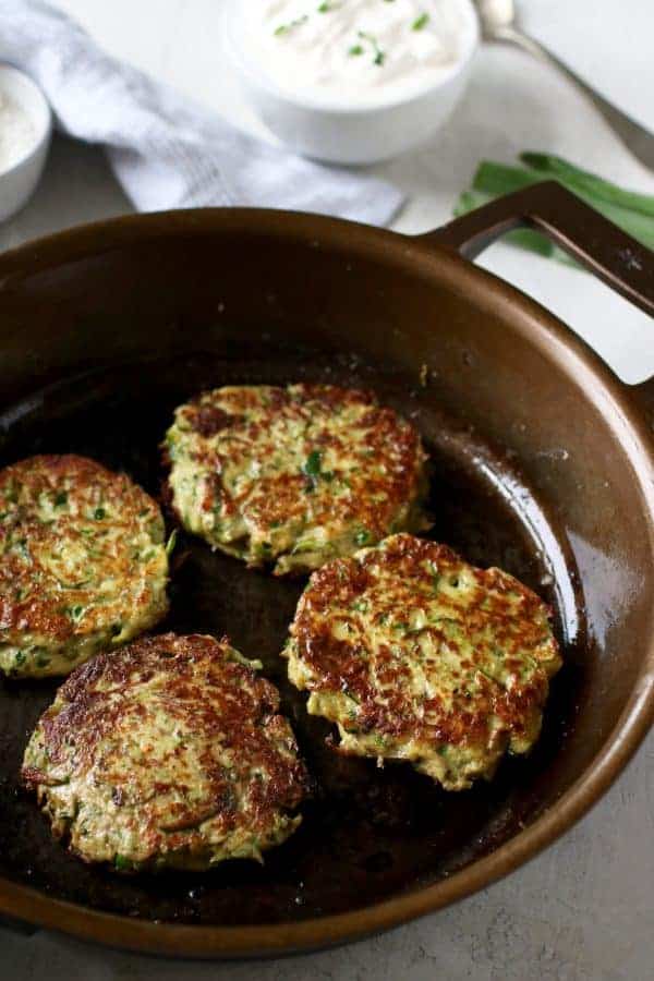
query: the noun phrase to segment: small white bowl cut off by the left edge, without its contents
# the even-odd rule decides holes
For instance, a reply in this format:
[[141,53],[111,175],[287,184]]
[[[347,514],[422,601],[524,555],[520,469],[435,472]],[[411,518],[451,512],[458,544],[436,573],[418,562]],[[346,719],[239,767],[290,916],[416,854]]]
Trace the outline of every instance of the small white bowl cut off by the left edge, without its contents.
[[9,170],[0,170],[0,221],[27,204],[40,180],[52,134],[52,113],[32,78],[10,64],[0,64],[0,95],[23,108],[34,126],[34,141]]

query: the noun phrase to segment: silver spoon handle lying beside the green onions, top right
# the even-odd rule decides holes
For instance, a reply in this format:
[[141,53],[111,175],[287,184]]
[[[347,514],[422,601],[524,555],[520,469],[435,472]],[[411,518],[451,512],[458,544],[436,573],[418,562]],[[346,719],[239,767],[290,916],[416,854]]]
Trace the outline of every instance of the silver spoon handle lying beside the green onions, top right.
[[544,47],[544,45],[534,40],[533,37],[522,34],[521,31],[517,31],[514,27],[496,27],[487,35],[487,39],[516,45],[529,55],[533,55],[534,58],[558,69],[559,72],[577,85],[577,87],[591,99],[595,108],[598,109],[634,157],[638,157],[645,167],[654,170],[654,135],[630,119],[625,112],[617,109],[616,106],[613,106],[603,98],[596,89],[588,85],[583,78],[573,72],[572,69],[568,68],[565,62],[560,61],[556,55],[553,55],[553,52]]

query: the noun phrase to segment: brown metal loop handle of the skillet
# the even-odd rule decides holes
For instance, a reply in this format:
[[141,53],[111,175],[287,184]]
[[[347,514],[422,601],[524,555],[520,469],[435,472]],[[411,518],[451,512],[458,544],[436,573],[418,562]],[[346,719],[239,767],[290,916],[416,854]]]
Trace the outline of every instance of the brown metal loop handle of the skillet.
[[654,253],[556,181],[533,184],[420,235],[474,258],[514,228],[544,232],[583,266],[654,316]]

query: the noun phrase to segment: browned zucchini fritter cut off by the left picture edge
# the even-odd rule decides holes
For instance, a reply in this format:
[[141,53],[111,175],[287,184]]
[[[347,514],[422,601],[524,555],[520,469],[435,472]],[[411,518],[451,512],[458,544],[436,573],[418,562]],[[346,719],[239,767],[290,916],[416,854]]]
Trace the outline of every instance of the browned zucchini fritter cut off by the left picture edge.
[[159,507],[124,474],[75,456],[0,471],[0,670],[66,675],[168,609]]

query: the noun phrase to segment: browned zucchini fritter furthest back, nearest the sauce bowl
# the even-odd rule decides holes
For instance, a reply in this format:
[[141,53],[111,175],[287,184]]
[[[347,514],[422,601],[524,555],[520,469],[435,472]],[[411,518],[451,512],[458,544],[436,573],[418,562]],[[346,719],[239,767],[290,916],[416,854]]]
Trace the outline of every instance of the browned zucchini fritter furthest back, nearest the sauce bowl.
[[278,576],[429,524],[420,437],[367,392],[218,388],[177,410],[165,457],[184,528]]

